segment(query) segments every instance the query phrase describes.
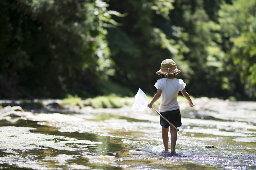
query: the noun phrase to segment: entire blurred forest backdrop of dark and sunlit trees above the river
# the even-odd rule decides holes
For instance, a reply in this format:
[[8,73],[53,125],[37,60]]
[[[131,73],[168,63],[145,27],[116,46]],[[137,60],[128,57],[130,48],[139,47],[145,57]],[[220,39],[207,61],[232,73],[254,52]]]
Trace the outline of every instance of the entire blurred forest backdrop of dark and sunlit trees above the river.
[[0,0],[0,98],[155,94],[173,59],[194,97],[255,100],[256,0]]

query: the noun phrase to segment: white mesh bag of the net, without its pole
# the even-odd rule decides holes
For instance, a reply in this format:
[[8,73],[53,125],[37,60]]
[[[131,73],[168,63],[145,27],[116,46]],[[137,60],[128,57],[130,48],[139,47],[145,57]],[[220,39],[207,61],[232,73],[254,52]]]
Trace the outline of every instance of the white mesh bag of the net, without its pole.
[[139,88],[139,91],[135,95],[135,101],[133,103],[132,109],[134,111],[143,111],[147,108],[149,100],[147,95]]

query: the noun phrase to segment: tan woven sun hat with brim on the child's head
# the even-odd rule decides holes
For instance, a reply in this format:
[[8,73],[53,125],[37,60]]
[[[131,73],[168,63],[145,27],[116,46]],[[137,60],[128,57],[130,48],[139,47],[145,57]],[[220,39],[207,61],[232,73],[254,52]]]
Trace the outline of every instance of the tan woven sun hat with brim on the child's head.
[[180,72],[181,71],[178,70],[176,63],[172,59],[166,59],[162,61],[161,69],[157,71],[157,74],[159,75],[164,74],[167,76],[168,74],[173,74],[173,73],[177,75]]

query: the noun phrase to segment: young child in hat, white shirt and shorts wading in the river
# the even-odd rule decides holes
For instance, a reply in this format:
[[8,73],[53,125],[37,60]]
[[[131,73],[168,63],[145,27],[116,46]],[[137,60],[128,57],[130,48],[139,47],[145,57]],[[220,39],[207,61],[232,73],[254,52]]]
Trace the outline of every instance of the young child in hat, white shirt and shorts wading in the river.
[[[181,115],[180,115],[180,105],[178,103],[178,92],[181,91],[185,99],[188,100],[190,107],[193,107],[191,98],[189,97],[187,91],[185,90],[186,84],[181,79],[176,79],[175,76],[181,71],[177,69],[176,63],[171,59],[163,60],[161,63],[161,69],[157,72],[158,75],[162,74],[162,78],[157,80],[155,87],[157,88],[157,93],[154,98],[148,103],[148,107],[151,108],[152,105],[160,98],[162,95],[160,114],[164,116],[170,123],[175,127],[181,126]],[[162,126],[162,138],[163,145],[165,146],[165,151],[169,151],[168,142],[168,131],[170,124],[166,122],[160,116],[160,124]],[[175,146],[177,141],[177,131],[174,127],[170,126],[171,133],[171,153],[176,153]]]

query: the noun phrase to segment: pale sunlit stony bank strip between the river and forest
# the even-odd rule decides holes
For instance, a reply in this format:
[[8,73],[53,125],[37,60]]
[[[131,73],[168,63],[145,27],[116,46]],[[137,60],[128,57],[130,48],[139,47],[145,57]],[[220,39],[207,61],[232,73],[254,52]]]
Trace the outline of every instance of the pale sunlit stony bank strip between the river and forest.
[[[18,116],[26,114],[37,115],[39,113],[61,113],[61,114],[120,114],[124,112],[132,113],[132,103],[134,98],[120,99],[124,104],[120,108],[93,108],[92,106],[81,107],[79,105],[70,106],[64,104],[63,100],[59,99],[46,99],[46,100],[29,100],[27,103],[23,103],[21,100],[0,100],[0,117],[8,116]],[[40,101],[40,102],[38,102]],[[84,102],[82,100],[82,102]],[[38,104],[39,103],[39,104]],[[185,118],[199,118],[199,119],[223,119],[231,121],[241,121],[245,119],[246,121],[252,120],[252,123],[256,123],[256,102],[248,101],[230,101],[222,100],[218,98],[197,98],[193,100],[194,107],[189,108],[187,102],[182,100],[180,102],[180,110],[182,112],[182,117]],[[5,106],[5,107],[3,107]],[[159,110],[159,103],[154,107]],[[246,111],[246,112],[245,112]],[[146,114],[155,114],[152,109],[146,109],[143,111]],[[135,112],[134,112],[135,113]],[[136,113],[138,114],[138,112]],[[220,116],[221,115],[221,118]],[[241,115],[243,115],[241,118]],[[251,115],[246,116],[246,115]]]

